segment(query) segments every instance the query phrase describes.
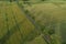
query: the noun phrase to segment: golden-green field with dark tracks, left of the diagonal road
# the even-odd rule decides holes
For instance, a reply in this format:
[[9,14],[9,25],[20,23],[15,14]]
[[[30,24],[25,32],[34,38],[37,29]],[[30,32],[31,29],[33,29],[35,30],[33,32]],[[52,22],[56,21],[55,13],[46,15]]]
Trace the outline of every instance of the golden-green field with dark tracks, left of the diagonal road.
[[[35,26],[26,19],[14,3],[2,4],[0,8],[0,44],[24,44]],[[33,36],[31,36],[32,38]]]

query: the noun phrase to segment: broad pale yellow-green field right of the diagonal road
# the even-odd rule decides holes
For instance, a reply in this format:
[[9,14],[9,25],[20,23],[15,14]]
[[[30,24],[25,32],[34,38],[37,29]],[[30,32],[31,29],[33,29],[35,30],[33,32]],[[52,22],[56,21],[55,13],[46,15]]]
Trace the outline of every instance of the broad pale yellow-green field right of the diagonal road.
[[[41,28],[45,26],[45,33],[50,30],[55,30],[55,34],[52,38],[55,38],[55,44],[65,44],[65,22],[66,22],[66,3],[65,2],[45,2],[35,3],[32,6],[24,6],[25,10],[30,13],[30,16],[35,20]],[[63,25],[63,24],[64,25]],[[62,29],[64,28],[64,29]],[[62,31],[63,30],[63,31]],[[64,32],[64,33],[63,33]]]

